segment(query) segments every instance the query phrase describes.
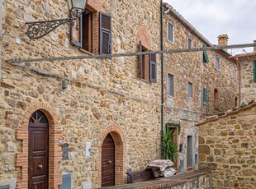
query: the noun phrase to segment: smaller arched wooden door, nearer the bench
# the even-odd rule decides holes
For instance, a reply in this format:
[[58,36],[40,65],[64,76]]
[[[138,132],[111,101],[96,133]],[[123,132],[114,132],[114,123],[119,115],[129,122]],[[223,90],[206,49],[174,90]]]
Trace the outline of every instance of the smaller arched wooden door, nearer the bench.
[[102,187],[115,185],[115,143],[108,134],[102,145]]

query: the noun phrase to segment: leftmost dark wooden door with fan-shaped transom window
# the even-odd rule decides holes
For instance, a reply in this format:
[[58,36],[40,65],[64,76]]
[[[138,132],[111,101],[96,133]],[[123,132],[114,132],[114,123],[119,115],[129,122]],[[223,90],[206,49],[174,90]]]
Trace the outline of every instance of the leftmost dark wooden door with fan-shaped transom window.
[[29,122],[29,189],[48,188],[49,123],[40,110]]

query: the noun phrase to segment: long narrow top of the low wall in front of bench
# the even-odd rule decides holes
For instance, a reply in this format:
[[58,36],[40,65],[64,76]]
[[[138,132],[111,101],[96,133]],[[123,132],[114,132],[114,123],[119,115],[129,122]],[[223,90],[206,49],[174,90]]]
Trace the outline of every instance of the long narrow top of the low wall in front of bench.
[[148,182],[138,182],[125,185],[118,185],[114,187],[103,187],[105,189],[135,189],[135,188],[160,188],[160,187],[173,187],[178,184],[183,184],[194,177],[200,177],[210,174],[210,171],[192,171],[188,173],[178,173],[173,177],[160,177],[158,179]]

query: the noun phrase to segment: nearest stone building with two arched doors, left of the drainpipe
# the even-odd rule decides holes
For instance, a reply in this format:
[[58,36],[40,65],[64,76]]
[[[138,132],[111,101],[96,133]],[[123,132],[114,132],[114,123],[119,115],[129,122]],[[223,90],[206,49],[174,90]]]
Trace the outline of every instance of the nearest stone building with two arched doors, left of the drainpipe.
[[[138,52],[140,41],[145,48],[157,50],[159,6],[154,0],[88,0],[83,20],[91,21],[93,32],[81,42],[81,34],[72,29],[70,43],[68,25],[41,39],[31,40],[25,34],[25,22],[67,18],[65,0],[3,2],[1,182],[14,179],[22,189],[36,185],[31,176],[34,170],[40,175],[38,187],[57,188],[62,177],[71,179],[73,188],[118,185],[126,182],[127,168],[142,169],[149,160],[159,159],[160,77],[157,81],[140,79],[137,57],[25,62],[17,67],[7,62]],[[99,19],[108,25],[100,25]],[[87,27],[82,22],[81,28]],[[104,40],[99,43],[103,29],[111,48],[103,48]],[[159,56],[155,62],[159,67]],[[31,141],[38,145],[34,152]],[[116,154],[110,150],[109,156],[102,156],[108,143],[115,145]],[[69,157],[63,157],[62,145],[65,148],[66,144]],[[33,161],[36,149],[48,154],[41,159],[33,156]],[[109,172],[103,169],[106,164]]]

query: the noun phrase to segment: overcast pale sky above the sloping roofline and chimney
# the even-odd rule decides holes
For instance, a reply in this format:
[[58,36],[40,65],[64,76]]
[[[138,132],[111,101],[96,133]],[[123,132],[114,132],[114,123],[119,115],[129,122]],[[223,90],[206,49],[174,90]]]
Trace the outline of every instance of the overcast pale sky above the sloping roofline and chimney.
[[[229,35],[229,44],[256,40],[255,0],[164,0],[189,21],[211,44],[217,36]],[[251,52],[253,48],[244,48]],[[230,52],[231,53],[231,52]],[[232,53],[242,53],[233,49]]]

